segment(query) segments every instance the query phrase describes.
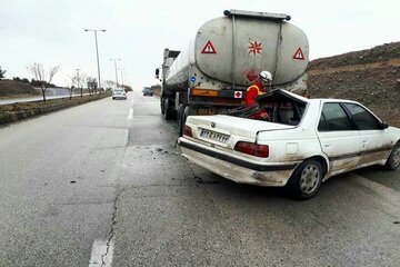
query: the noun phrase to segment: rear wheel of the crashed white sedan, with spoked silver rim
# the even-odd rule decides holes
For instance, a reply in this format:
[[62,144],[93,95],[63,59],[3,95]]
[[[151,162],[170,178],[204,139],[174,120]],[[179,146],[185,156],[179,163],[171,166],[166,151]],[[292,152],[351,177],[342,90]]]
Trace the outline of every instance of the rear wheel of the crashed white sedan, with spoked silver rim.
[[289,180],[293,197],[309,199],[313,197],[322,184],[323,168],[317,159],[307,159],[294,170]]

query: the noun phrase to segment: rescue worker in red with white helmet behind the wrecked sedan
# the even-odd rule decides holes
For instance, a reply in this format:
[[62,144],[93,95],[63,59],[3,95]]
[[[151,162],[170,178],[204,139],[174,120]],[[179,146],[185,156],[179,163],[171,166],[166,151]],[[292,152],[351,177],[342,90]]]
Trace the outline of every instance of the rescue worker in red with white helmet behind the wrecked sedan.
[[[267,88],[272,83],[272,75],[263,70],[260,72],[259,77],[254,81],[252,86],[247,89],[246,92],[246,106],[254,106],[256,98],[267,92]],[[266,109],[259,109],[254,113],[252,113],[249,118],[259,119],[259,120],[269,120],[269,116]]]

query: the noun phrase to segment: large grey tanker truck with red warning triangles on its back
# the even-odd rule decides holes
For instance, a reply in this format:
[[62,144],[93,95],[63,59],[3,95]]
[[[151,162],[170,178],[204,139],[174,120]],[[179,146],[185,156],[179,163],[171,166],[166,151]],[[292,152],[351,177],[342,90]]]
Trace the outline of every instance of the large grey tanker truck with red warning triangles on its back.
[[272,73],[272,88],[307,88],[309,43],[282,13],[226,10],[197,31],[182,50],[164,49],[156,69],[161,80],[160,108],[177,118],[179,136],[190,115],[213,115],[244,105],[247,88],[259,72]]

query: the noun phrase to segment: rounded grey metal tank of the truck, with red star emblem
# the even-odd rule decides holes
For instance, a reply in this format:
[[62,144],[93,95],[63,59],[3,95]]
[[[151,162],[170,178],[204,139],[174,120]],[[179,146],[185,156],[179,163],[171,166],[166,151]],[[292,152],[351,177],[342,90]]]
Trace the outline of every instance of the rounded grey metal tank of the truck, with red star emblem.
[[308,38],[298,27],[283,20],[221,17],[200,27],[172,63],[166,82],[188,88],[191,78],[206,76],[211,81],[244,87],[268,70],[273,85],[279,86],[300,78],[308,62]]

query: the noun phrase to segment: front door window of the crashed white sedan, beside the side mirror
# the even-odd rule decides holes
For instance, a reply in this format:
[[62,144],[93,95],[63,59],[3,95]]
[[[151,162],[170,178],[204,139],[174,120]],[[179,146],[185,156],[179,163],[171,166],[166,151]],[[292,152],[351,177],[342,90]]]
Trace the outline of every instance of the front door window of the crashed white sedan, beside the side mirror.
[[360,130],[380,129],[377,118],[363,107],[356,103],[344,103]]

